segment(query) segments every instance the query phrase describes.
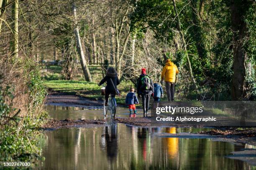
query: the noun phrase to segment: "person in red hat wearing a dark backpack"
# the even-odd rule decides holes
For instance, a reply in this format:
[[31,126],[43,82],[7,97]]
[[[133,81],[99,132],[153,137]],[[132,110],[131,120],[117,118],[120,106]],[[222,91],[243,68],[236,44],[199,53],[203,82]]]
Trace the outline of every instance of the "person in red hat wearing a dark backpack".
[[141,69],[141,75],[137,81],[138,97],[142,97],[143,117],[147,117],[150,96],[154,97],[153,81],[146,74],[146,68]]

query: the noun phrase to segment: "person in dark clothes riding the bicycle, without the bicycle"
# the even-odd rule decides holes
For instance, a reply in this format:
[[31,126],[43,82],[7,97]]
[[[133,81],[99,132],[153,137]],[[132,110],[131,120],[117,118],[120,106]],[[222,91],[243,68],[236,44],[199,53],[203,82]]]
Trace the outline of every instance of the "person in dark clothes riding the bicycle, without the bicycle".
[[[113,81],[113,83],[111,82]],[[107,82],[107,86],[105,89],[105,105],[108,105],[108,96],[110,94],[113,94],[113,97],[115,97],[115,89],[117,89],[117,85],[120,84],[120,81],[118,79],[118,74],[113,67],[108,67],[108,70],[106,72],[105,77],[100,81],[99,86],[102,85],[104,82]],[[115,87],[113,86],[115,85]]]

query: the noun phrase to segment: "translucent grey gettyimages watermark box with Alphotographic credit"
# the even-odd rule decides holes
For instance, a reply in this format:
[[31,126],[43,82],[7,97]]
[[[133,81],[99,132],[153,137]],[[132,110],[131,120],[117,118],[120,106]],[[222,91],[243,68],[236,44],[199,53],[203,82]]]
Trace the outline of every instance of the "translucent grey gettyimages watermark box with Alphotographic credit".
[[169,126],[256,126],[256,102],[152,102],[152,123]]

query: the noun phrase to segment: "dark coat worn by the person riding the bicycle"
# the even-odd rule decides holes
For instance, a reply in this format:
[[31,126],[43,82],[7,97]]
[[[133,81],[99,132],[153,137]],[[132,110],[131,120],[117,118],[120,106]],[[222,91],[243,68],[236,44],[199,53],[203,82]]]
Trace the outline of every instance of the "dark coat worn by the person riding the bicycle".
[[107,86],[105,89],[105,92],[115,92],[115,88],[111,82],[111,80],[113,81],[115,88],[117,88],[116,86],[120,84],[120,81],[118,79],[117,73],[115,72],[107,72],[106,76],[100,81],[99,85],[102,85],[104,82],[107,82]]

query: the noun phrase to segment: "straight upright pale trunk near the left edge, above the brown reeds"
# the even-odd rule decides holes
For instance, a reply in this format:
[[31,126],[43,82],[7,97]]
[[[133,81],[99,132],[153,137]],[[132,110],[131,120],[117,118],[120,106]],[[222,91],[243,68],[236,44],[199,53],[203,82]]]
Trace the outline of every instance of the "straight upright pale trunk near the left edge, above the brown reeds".
[[18,58],[18,51],[19,51],[19,46],[18,46],[18,7],[19,7],[19,1],[15,0],[13,4],[13,56],[15,58]]

